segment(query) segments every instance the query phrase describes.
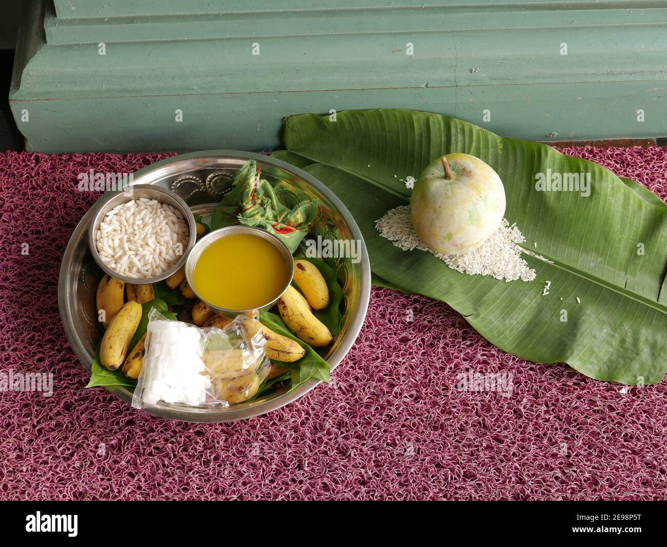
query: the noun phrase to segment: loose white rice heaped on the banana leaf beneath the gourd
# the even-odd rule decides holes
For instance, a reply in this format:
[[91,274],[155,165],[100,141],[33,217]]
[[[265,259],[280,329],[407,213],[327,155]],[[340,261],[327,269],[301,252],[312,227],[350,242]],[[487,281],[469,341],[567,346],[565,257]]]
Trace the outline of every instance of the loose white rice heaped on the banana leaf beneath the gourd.
[[384,217],[376,220],[376,228],[382,237],[394,241],[396,247],[404,251],[429,251],[463,274],[493,276],[497,280],[506,281],[535,279],[535,270],[521,257],[522,248],[518,243],[523,243],[526,239],[516,227],[516,222],[510,226],[506,219],[502,219],[498,229],[481,247],[462,255],[444,255],[424,245],[412,227],[409,205],[388,211]]

